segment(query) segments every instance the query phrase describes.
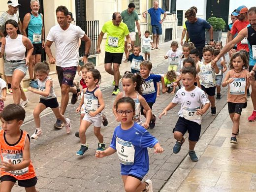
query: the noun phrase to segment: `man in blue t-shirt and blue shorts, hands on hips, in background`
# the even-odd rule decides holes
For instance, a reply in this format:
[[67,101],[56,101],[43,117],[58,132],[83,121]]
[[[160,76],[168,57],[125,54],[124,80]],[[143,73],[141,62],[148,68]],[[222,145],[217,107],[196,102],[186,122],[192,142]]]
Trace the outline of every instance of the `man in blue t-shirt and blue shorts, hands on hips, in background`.
[[[159,7],[159,2],[154,1],[152,8],[143,12],[143,17],[146,18],[146,14],[150,14],[151,17],[151,27],[153,33],[153,43],[154,47],[152,49],[160,49],[159,48],[159,38],[160,34],[162,34],[162,22],[165,20],[167,13]],[[161,14],[163,14],[163,18],[161,19]]]

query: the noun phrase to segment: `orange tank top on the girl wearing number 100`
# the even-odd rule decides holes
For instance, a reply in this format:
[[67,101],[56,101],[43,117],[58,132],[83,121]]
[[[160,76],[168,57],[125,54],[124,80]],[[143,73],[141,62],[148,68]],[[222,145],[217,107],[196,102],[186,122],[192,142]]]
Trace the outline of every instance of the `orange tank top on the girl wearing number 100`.
[[[232,103],[245,103],[246,102],[246,94],[247,94],[247,69],[243,69],[243,71],[240,74],[237,74],[234,69],[230,70],[230,76],[229,78],[245,78],[245,90],[244,94],[241,95],[234,95],[230,94],[230,84],[228,85],[228,94],[227,94],[227,102]],[[239,82],[232,82],[238,84]]]

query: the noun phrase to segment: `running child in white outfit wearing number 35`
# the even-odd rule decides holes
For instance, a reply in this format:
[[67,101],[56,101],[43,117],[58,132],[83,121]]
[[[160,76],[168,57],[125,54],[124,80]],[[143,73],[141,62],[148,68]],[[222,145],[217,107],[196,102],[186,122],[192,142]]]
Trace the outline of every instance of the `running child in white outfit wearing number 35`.
[[[91,124],[94,126],[94,134],[98,139],[97,150],[104,151],[106,144],[103,140],[103,135],[100,133],[100,127],[102,122],[102,110],[105,107],[102,93],[98,88],[100,83],[101,75],[97,69],[90,69],[86,73],[86,85],[87,88],[83,90],[84,95],[82,96],[81,103],[85,106],[85,116],[79,127],[79,138],[81,141],[81,148],[77,151],[76,155],[82,156],[89,149],[88,143],[86,142],[85,132]],[[82,104],[76,108],[78,113],[82,107]]]

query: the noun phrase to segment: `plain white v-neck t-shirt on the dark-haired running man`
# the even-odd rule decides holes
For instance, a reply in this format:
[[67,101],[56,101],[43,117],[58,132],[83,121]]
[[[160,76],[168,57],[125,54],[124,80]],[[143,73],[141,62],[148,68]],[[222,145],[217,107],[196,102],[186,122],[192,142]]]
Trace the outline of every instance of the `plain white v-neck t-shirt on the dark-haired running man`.
[[70,24],[65,31],[59,24],[50,29],[47,40],[55,43],[57,66],[78,66],[78,42],[84,35],[85,32],[79,26],[74,26],[73,24]]

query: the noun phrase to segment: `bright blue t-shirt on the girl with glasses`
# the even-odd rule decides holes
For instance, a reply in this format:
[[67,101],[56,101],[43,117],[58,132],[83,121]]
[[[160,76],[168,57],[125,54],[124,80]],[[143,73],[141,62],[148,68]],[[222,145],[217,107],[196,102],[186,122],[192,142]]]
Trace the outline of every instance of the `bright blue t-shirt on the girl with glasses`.
[[121,125],[115,128],[110,144],[110,147],[114,150],[116,150],[117,137],[119,139],[127,141],[128,143],[132,143],[135,150],[133,164],[120,163],[121,174],[126,174],[130,172],[131,169],[134,170],[136,169],[136,167],[138,167],[138,170],[141,170],[141,172],[135,174],[138,177],[143,177],[149,170],[149,155],[147,148],[154,147],[159,141],[156,139],[156,137],[152,136],[145,128],[141,127],[136,123],[134,123],[134,125],[128,130],[122,129]]

